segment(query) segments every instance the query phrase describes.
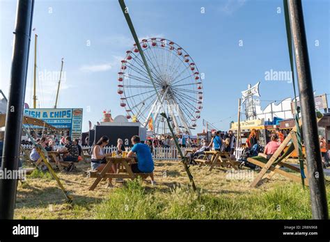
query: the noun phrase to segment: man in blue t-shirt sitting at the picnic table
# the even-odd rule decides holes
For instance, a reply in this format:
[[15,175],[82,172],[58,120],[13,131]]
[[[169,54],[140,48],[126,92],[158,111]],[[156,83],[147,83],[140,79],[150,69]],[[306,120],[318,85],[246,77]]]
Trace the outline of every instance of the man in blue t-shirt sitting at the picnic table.
[[146,144],[141,143],[139,136],[132,137],[133,147],[127,154],[127,157],[133,156],[135,153],[137,156],[137,163],[132,164],[132,172],[134,173],[150,173],[151,184],[154,185],[154,161],[152,160],[152,154],[150,147]]

